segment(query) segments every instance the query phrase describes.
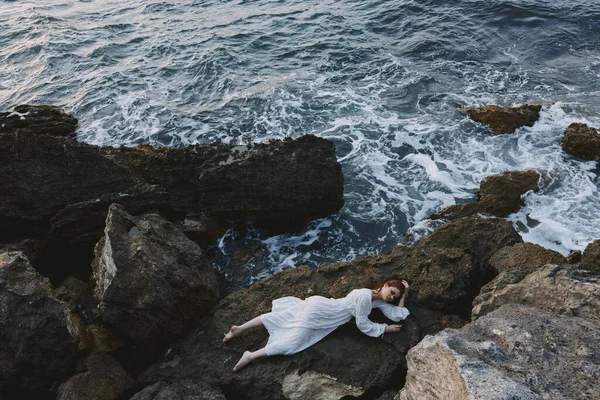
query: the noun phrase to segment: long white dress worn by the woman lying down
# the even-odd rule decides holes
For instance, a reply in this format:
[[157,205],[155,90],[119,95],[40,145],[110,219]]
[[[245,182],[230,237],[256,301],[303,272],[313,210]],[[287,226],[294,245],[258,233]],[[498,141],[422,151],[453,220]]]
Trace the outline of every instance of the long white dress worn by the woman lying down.
[[305,300],[282,297],[273,300],[270,313],[260,319],[269,331],[265,347],[267,355],[294,354],[317,343],[338,326],[356,318],[356,326],[363,333],[379,337],[387,324],[377,324],[369,319],[373,308],[379,308],[393,321],[408,317],[405,307],[381,300],[372,300],[370,289],[356,289],[343,299],[311,296]]

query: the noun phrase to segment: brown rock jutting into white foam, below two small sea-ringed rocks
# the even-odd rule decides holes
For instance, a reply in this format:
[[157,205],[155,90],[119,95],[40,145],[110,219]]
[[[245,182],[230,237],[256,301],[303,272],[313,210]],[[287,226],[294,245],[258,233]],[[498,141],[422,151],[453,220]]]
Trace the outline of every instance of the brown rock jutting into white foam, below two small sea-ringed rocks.
[[521,195],[530,190],[539,190],[540,175],[540,171],[530,169],[488,176],[481,181],[476,202],[446,207],[429,218],[456,219],[477,214],[508,217],[523,205]]

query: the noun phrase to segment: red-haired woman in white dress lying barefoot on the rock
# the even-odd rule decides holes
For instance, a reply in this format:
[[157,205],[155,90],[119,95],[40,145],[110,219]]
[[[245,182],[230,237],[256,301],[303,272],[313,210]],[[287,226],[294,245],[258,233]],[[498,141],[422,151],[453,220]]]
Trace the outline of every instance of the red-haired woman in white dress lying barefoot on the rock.
[[[363,333],[379,337],[384,333],[399,332],[400,325],[377,324],[369,319],[373,308],[379,308],[393,321],[408,317],[404,307],[408,283],[389,280],[376,289],[355,289],[343,299],[311,296],[306,300],[282,297],[273,300],[272,311],[260,315],[240,326],[232,326],[223,342],[255,326],[264,325],[269,331],[267,345],[254,352],[246,351],[233,367],[237,371],[257,358],[276,354],[294,354],[317,343],[338,326],[356,318],[356,326]],[[398,300],[398,306],[393,303]]]

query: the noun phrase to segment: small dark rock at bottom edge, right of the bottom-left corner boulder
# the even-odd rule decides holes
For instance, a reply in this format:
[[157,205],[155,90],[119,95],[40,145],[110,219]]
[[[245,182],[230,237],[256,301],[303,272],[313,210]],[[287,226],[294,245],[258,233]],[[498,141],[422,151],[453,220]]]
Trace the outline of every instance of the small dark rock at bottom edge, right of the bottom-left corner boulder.
[[106,353],[90,355],[80,363],[78,374],[60,385],[57,400],[117,400],[135,385],[133,378]]

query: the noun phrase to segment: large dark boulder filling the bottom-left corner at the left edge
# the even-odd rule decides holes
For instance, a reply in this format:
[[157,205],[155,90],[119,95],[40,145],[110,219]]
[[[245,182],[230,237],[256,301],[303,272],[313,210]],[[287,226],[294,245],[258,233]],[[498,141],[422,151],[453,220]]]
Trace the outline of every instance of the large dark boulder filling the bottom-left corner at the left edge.
[[67,305],[23,253],[0,254],[0,393],[42,396],[68,376],[77,355],[71,330]]

